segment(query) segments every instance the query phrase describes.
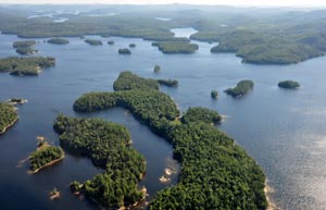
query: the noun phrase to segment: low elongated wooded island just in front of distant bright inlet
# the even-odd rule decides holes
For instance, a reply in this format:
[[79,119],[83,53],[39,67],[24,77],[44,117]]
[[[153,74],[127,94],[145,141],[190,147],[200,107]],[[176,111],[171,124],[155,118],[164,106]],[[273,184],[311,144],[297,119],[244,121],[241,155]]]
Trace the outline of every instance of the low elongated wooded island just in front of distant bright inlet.
[[197,44],[190,44],[189,41],[156,41],[152,46],[159,48],[160,51],[167,54],[175,53],[193,53],[199,49]]

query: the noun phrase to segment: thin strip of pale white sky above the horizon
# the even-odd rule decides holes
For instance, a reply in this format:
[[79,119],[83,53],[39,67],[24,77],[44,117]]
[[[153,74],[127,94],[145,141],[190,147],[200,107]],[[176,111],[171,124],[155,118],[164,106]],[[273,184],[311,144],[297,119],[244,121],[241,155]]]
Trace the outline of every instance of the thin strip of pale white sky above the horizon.
[[222,4],[222,5],[256,5],[256,7],[325,7],[326,0],[0,0],[0,3],[118,3],[118,4]]

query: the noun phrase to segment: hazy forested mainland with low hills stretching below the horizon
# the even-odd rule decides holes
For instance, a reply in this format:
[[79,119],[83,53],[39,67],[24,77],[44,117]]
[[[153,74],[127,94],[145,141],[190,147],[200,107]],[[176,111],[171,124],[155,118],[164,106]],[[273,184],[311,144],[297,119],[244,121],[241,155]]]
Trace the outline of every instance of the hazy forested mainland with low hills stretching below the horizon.
[[[7,20],[0,23],[3,34],[15,34],[23,38],[51,37],[83,37],[100,35],[103,37],[121,36],[143,38],[154,41],[164,53],[192,53],[198,49],[191,40],[218,42],[211,51],[213,53],[233,52],[242,58],[243,62],[256,64],[291,64],[315,57],[324,55],[324,16],[318,11],[287,13],[275,15],[268,9],[238,9],[241,21],[236,13],[221,12],[221,8],[208,9],[199,7],[193,14],[188,10],[165,10],[158,8],[155,14],[143,10],[146,7],[136,7],[129,12],[118,15],[70,14],[70,18],[62,23],[53,23],[52,18],[39,16],[27,18],[29,15],[21,11],[0,13]],[[195,9],[188,5],[189,11]],[[4,10],[4,9],[1,9]],[[261,16],[261,11],[266,15]],[[15,10],[14,10],[15,11]],[[1,11],[0,11],[1,12]],[[158,20],[158,14],[170,21]],[[26,16],[24,16],[26,15]],[[276,17],[277,16],[277,17]],[[304,20],[304,21],[302,21]],[[281,23],[281,24],[278,24]],[[191,36],[174,37],[173,28],[195,28]],[[73,28],[73,29],[72,29]],[[101,45],[98,41],[88,41],[90,45]],[[32,50],[20,50],[22,53],[33,53]]]

